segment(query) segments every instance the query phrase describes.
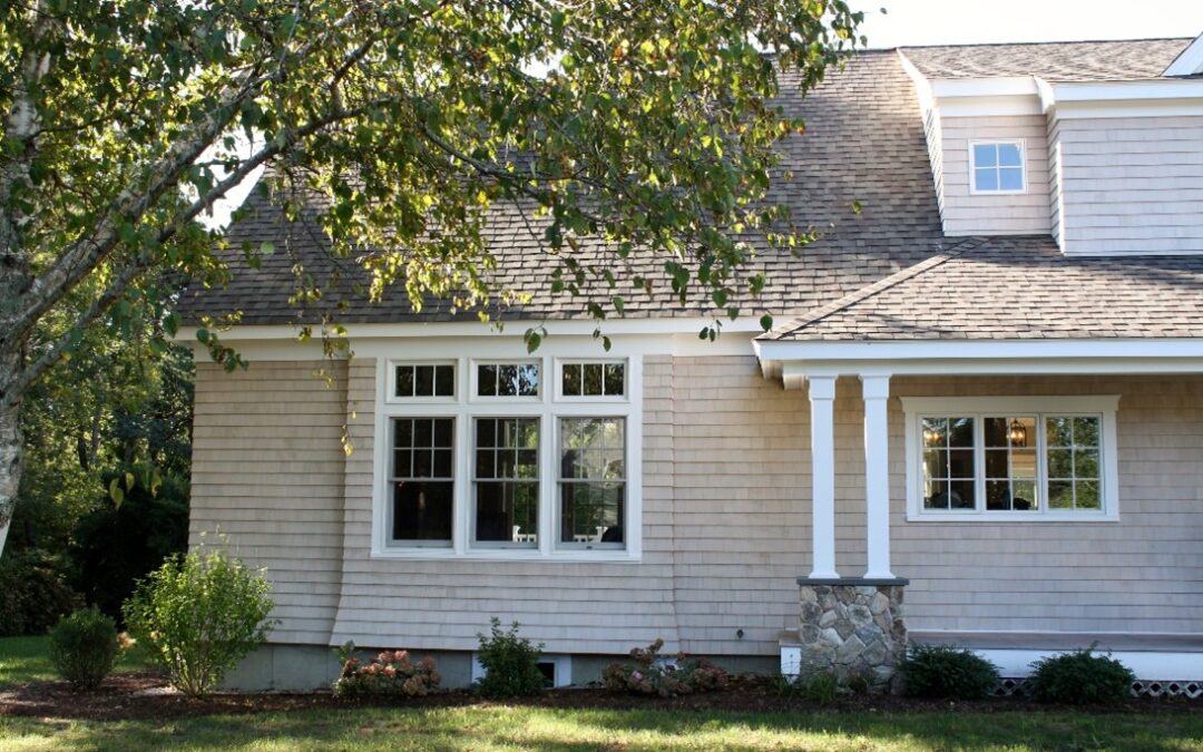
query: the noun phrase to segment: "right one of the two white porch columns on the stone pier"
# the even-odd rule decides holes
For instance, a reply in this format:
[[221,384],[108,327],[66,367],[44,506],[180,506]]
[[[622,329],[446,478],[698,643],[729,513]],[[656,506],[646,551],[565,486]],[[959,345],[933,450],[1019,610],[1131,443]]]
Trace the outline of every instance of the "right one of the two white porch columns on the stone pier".
[[890,468],[887,401],[890,377],[861,375],[865,397],[865,519],[871,580],[893,580],[890,572]]

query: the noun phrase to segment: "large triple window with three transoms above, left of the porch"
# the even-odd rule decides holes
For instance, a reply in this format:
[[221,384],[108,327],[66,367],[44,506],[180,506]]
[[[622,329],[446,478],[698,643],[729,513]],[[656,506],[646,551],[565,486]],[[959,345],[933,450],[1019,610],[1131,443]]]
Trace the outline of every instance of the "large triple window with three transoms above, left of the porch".
[[553,355],[384,361],[373,551],[636,557],[636,366]]

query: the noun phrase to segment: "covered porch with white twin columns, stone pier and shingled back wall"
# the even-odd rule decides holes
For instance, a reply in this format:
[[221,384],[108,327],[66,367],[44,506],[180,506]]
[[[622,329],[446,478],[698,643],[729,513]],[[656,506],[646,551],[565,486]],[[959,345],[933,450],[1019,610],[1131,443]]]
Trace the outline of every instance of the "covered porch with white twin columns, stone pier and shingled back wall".
[[[826,630],[824,636],[828,609],[806,605],[814,588],[843,587],[866,596],[873,588],[891,605],[897,600],[893,632],[901,639],[875,665],[883,681],[908,641],[961,645],[1017,677],[1041,655],[1097,641],[1122,655],[1142,679],[1203,679],[1203,634],[1191,621],[1203,612],[1203,552],[1191,543],[1203,534],[1197,491],[1203,486],[1203,380],[1197,375],[1203,348],[1086,344],[757,342],[765,375],[780,378],[787,390],[805,390],[810,405],[812,553],[799,578],[799,629],[781,639],[783,673],[804,670],[807,656],[811,663],[819,658],[820,668],[845,670],[847,662],[824,661],[840,655],[847,634],[831,645],[836,635]],[[1166,411],[1156,409],[1158,399]],[[1014,503],[995,505],[992,475],[985,498],[984,455],[1003,450],[983,443],[980,425],[973,428],[977,444],[964,448],[966,456],[974,452],[974,473],[964,479],[976,491],[973,502],[958,509],[925,476],[924,452],[932,451],[924,415],[971,415],[966,404],[974,401],[985,405],[976,410],[978,424],[988,415],[1007,421],[1020,415],[1020,428],[1033,431],[1024,450],[1038,457],[1031,463],[1031,487],[1038,488],[1032,498],[1008,493]],[[847,416],[843,426],[837,418],[841,405],[846,414],[852,403],[860,413],[855,448],[847,440]],[[1057,496],[1061,479],[1049,480],[1049,452],[1056,456],[1060,449],[1050,449],[1043,421],[1057,413],[1100,415],[1090,448],[1098,460],[1097,507],[1065,507]],[[956,448],[944,443],[941,451]],[[1008,451],[1012,460],[1024,454]],[[864,563],[851,566],[840,550],[848,545],[847,525],[842,534],[836,529],[837,514],[847,519],[848,490],[837,485],[848,485],[849,464],[863,475],[857,491],[865,546]],[[1013,491],[1026,479],[1000,480]],[[1086,504],[1094,499],[1083,495]],[[903,588],[919,596],[918,620],[902,606]],[[819,626],[816,616],[828,624]]]

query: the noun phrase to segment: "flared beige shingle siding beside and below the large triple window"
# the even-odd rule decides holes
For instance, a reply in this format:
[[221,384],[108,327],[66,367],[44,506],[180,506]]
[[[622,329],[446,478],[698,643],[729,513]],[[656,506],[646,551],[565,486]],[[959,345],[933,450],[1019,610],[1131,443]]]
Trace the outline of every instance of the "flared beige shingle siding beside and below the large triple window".
[[372,457],[375,361],[350,367],[358,405],[348,427],[342,598],[334,643],[472,650],[491,616],[518,621],[551,652],[627,652],[663,638],[677,643],[672,603],[671,426],[668,360],[648,360],[645,410],[644,557],[640,563],[372,558]]

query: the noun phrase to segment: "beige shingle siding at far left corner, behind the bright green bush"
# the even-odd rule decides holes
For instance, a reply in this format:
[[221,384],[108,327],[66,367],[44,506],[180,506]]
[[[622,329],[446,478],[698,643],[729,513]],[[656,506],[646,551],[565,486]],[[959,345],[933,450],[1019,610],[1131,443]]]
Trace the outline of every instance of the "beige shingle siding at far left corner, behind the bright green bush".
[[229,537],[266,567],[282,620],[277,643],[327,644],[343,555],[345,367],[255,362],[225,373],[197,357],[190,541]]

